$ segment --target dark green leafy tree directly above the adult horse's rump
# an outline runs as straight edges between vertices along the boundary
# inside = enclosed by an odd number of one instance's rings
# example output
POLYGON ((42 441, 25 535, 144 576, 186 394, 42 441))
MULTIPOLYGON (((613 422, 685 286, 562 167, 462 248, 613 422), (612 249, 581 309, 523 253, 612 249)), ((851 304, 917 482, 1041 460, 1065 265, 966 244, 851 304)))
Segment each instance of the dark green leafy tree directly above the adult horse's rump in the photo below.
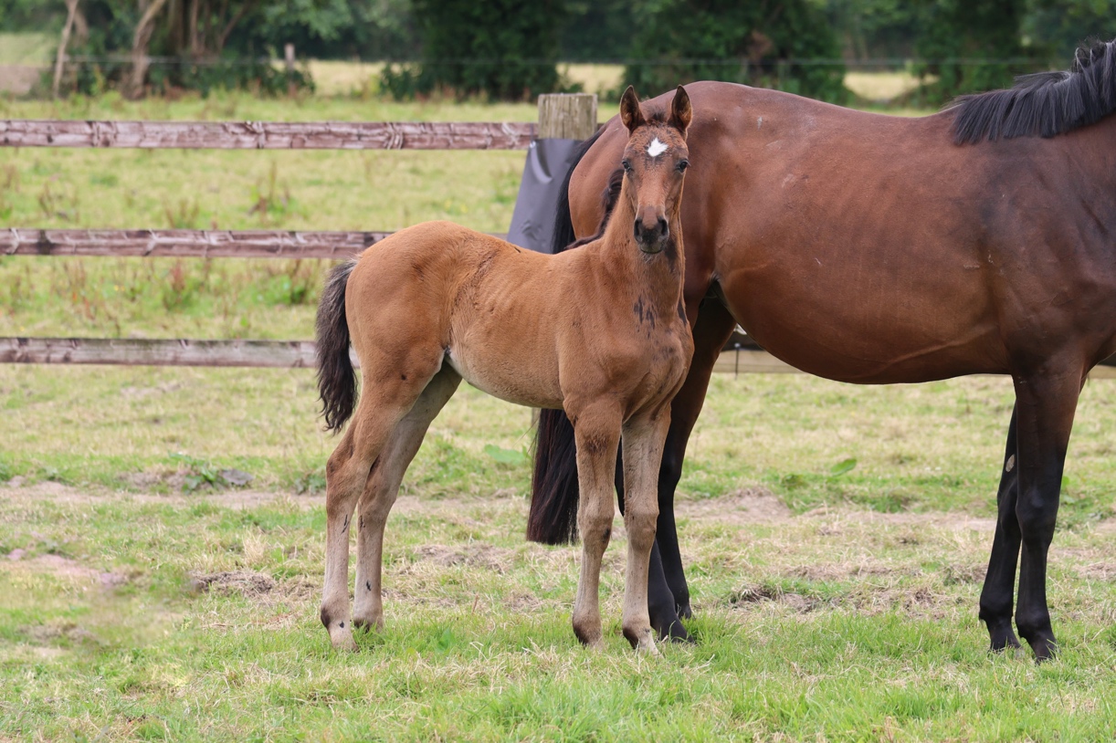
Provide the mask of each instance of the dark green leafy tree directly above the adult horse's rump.
POLYGON ((840 48, 820 8, 807 0, 654 0, 635 19, 625 80, 652 96, 694 80, 728 80, 839 102, 840 48), (668 60, 639 64, 638 60, 668 60))

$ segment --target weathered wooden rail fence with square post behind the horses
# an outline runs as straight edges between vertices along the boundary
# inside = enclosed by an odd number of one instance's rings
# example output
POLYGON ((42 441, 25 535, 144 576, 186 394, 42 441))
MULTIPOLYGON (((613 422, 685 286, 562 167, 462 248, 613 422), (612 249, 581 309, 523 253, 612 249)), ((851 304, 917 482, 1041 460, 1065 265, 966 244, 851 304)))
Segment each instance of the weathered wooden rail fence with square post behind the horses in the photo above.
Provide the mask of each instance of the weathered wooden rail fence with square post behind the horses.
MULTIPOLYGON (((585 138, 596 96, 540 96, 539 124, 489 122, 83 122, 0 119, 0 146, 220 149, 526 149, 537 136, 585 138)), ((391 232, 282 230, 0 230, 7 255, 343 259, 391 232)), ((308 340, 0 337, 0 363, 312 367, 308 340)), ((1116 377, 1116 356, 1096 377, 1116 377)), ((714 367, 792 373, 738 336, 714 367)))

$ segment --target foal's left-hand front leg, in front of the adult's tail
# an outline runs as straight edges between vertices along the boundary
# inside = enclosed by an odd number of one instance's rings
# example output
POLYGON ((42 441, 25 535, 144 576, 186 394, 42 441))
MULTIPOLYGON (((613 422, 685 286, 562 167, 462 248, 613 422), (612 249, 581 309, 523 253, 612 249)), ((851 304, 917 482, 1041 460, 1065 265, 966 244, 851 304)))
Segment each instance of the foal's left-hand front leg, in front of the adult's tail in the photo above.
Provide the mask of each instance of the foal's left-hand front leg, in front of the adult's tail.
POLYGON ((567 413, 574 423, 577 480, 581 492, 577 509, 581 573, 574 601, 574 634, 584 644, 597 646, 600 644, 600 561, 613 530, 612 480, 623 417, 619 407, 610 401, 567 413))

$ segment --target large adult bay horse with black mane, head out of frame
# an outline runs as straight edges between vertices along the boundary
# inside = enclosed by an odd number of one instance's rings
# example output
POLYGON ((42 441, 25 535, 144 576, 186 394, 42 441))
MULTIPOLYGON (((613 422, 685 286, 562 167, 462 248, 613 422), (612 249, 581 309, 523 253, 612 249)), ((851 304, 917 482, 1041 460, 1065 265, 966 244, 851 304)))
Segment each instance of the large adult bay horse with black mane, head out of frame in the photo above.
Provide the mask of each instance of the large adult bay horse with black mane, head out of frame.
MULTIPOLYGON (((739 322, 778 358, 841 382, 1011 375, 980 617, 993 649, 1018 646, 1018 563, 1019 634, 1050 657, 1047 551, 1074 412, 1089 369, 1116 350, 1116 42, 1080 49, 1070 71, 923 118, 724 83, 686 90, 695 165, 682 203, 684 296, 695 350, 658 479, 654 627, 685 636, 674 489, 713 361, 739 322)), ((557 242, 605 219, 624 141, 613 120, 588 143, 568 181, 571 233, 557 242)), ((564 425, 549 412, 540 423, 528 527, 539 541, 574 532, 564 425)))

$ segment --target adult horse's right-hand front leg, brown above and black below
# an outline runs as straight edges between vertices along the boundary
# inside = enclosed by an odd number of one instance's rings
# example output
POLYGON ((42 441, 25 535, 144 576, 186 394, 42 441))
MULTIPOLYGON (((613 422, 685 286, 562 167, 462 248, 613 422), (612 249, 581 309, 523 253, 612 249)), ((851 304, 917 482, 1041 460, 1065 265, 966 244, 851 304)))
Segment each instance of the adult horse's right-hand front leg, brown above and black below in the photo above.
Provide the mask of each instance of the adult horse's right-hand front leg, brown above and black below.
POLYGON ((1046 566, 1058 517, 1066 448, 1081 388, 1079 369, 1061 366, 1016 377, 1019 436, 1016 515, 1022 543, 1016 626, 1039 660, 1051 657, 1057 649, 1047 607, 1046 566))

